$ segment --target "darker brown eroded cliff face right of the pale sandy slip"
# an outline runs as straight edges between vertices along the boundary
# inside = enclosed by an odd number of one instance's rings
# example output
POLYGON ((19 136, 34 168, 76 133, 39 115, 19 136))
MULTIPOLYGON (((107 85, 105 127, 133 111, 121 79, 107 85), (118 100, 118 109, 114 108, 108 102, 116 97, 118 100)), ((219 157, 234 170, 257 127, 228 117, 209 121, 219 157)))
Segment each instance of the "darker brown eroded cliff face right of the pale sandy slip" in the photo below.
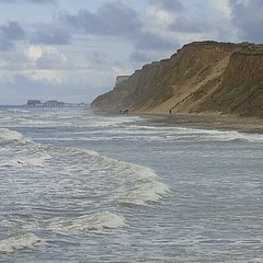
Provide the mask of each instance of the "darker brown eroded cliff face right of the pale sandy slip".
POLYGON ((263 117, 263 46, 232 53, 221 84, 196 110, 263 117))

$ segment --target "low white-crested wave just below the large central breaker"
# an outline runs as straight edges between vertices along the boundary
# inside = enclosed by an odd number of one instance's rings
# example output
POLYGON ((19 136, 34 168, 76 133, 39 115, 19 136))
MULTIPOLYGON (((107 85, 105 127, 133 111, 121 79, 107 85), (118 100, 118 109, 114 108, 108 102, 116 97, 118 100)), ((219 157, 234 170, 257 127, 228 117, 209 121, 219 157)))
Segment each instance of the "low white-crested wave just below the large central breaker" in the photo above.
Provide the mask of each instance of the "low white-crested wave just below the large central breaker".
POLYGON ((106 210, 80 216, 71 221, 62 221, 58 219, 58 221, 50 224, 49 228, 60 233, 88 233, 108 231, 125 226, 126 224, 123 216, 106 210))

